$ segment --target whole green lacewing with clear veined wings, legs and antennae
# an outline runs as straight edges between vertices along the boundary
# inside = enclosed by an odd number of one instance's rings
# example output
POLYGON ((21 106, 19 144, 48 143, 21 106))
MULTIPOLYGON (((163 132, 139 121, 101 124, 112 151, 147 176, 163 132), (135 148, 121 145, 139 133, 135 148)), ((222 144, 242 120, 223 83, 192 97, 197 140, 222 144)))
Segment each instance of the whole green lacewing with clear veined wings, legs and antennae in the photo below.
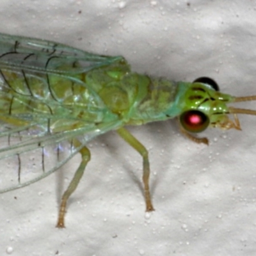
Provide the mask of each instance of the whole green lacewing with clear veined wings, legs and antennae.
POLYGON ((0 177, 0 193, 43 179, 81 154, 61 198, 59 228, 65 227, 67 200, 90 161, 86 143, 99 134, 115 130, 142 156, 146 211, 154 211, 147 149, 125 125, 177 117, 189 139, 207 144, 207 138, 194 133, 207 127, 240 130, 237 114, 256 115, 251 109, 228 106, 256 96, 223 94, 207 77, 176 83, 132 72, 122 56, 102 56, 22 36, 0 34, 0 76, 0 137, 4 137, 0 159, 8 161, 6 170, 13 175, 11 180, 0 177), (63 147, 68 147, 68 155, 61 158, 63 147), (40 152, 39 164, 29 173, 24 159, 34 151, 40 152), (52 154, 57 156, 54 163, 47 160, 52 154))

